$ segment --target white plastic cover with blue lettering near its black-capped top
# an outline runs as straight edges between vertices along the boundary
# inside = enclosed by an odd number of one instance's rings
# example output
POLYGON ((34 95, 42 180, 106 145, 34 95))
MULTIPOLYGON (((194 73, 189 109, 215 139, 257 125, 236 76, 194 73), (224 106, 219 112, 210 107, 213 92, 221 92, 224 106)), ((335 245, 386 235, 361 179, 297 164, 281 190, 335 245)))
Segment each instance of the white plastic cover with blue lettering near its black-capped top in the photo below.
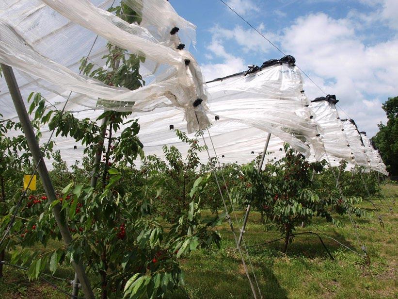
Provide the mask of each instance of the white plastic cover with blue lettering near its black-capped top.
POLYGON ((305 156, 310 144, 317 156, 324 151, 296 66, 276 64, 238 74, 207 83, 207 90, 209 110, 220 119, 272 133, 305 156))

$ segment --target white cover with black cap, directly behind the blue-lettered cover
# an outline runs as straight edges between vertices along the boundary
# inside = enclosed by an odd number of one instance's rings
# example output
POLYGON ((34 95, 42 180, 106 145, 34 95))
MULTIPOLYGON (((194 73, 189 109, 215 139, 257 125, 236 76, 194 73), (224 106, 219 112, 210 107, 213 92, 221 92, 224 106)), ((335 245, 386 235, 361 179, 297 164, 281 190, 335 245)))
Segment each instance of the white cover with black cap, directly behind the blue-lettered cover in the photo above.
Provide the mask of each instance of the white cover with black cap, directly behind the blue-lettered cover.
POLYGON ((354 162, 349 142, 344 134, 343 123, 338 116, 334 99, 331 96, 317 98, 312 101, 310 108, 314 114, 314 119, 322 128, 320 137, 325 147, 325 154, 331 156, 332 160, 345 160, 354 162))

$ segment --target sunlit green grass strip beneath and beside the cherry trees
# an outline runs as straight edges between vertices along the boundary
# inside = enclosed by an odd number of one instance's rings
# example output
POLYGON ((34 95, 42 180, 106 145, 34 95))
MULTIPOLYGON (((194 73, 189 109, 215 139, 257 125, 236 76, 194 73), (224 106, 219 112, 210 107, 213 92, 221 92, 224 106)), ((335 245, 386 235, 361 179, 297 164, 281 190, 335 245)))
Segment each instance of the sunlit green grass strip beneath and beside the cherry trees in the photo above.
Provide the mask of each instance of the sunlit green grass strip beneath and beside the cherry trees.
MULTIPOLYGON (((327 248, 332 252, 332 261, 316 235, 297 236, 289 245, 287 256, 281 253, 283 240, 264 246, 249 248, 251 262, 263 298, 398 298, 397 288, 397 208, 398 185, 383 186, 385 201, 374 199, 381 208, 384 228, 369 202, 363 208, 369 216, 355 220, 354 229, 347 217, 341 218, 341 227, 326 223, 323 219, 299 228, 297 232, 317 230, 327 233, 336 240, 362 253, 361 243, 367 247, 370 265, 363 258, 345 249, 326 235, 320 234, 327 248), (394 215, 389 211, 393 208, 394 215), (358 235, 358 243, 355 235, 358 235)), ((244 211, 238 211, 238 219, 244 211)), ((209 211, 203 212, 210 216, 209 211)), ((234 218, 234 217, 233 217, 234 218)), ((237 227, 237 225, 235 225, 237 227)), ((198 250, 182 260, 185 272, 185 291, 178 290, 173 299, 228 299, 252 298, 250 285, 235 249, 234 238, 227 223, 219 228, 223 241, 220 250, 198 250)), ((236 229, 238 232, 239 229, 236 229)), ((261 224, 260 215, 252 212, 246 227, 247 246, 279 238, 280 233, 261 224)), ((246 258, 247 262, 247 258, 246 258)), ((249 263, 248 263, 249 264, 249 263)), ((250 265, 248 265, 250 269, 250 265)), ((5 279, 0 282, 0 298, 67 298, 41 281, 29 282, 24 271, 4 266, 5 279)), ((71 268, 62 267, 56 273, 59 277, 73 278, 71 268)), ((252 276, 253 280, 253 276, 252 276)), ((257 290, 255 281, 253 280, 257 290)), ((57 285, 71 290, 70 285, 57 285)))

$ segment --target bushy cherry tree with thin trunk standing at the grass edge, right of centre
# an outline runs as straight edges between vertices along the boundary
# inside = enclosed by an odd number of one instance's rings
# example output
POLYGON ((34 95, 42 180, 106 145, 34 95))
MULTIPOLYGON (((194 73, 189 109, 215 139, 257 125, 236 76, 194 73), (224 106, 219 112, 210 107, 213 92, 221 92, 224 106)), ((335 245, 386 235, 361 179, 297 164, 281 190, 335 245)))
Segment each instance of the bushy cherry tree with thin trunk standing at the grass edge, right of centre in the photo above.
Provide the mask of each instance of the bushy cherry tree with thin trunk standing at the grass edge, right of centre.
POLYGON ((322 172, 325 162, 311 165, 288 145, 285 145, 285 151, 284 158, 267 164, 260 173, 254 162, 243 166, 241 182, 233 193, 241 203, 250 203, 261 211, 266 222, 271 222, 286 236, 284 252, 296 227, 303 222, 308 223, 315 216, 336 223, 332 212, 345 214, 349 209, 350 212, 354 210, 357 216, 362 215, 361 210, 351 207, 359 199, 342 199, 336 188, 323 184, 317 186, 312 181, 313 171, 322 172))

